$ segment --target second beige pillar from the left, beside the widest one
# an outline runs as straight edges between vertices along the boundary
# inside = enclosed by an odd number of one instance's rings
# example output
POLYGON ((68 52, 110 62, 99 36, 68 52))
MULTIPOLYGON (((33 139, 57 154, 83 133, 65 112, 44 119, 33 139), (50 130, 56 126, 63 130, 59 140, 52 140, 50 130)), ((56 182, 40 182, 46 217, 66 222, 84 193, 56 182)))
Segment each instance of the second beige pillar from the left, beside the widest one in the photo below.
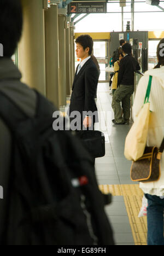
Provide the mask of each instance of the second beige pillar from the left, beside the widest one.
POLYGON ((46 96, 59 107, 58 96, 58 18, 57 3, 45 10, 45 73, 46 96))

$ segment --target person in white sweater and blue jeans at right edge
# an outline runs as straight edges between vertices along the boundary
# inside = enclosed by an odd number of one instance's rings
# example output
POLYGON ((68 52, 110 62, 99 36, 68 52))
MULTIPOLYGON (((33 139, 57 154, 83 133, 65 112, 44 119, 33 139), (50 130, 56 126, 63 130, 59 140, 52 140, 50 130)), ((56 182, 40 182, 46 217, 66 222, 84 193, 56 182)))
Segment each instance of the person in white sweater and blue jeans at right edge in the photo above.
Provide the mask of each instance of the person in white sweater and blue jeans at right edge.
MULTIPOLYGON (((150 75, 153 77, 150 92, 150 110, 147 146, 161 147, 164 137, 164 38, 157 46, 158 65, 153 70, 145 72, 139 80, 137 92, 133 104, 134 123, 140 109, 142 109, 145 92, 150 75)), ((133 139, 131 146, 133 147, 133 139)), ((148 245, 164 245, 163 237, 163 210, 164 210, 164 152, 160 160, 161 175, 154 182, 140 182, 139 187, 148 199, 148 245)))

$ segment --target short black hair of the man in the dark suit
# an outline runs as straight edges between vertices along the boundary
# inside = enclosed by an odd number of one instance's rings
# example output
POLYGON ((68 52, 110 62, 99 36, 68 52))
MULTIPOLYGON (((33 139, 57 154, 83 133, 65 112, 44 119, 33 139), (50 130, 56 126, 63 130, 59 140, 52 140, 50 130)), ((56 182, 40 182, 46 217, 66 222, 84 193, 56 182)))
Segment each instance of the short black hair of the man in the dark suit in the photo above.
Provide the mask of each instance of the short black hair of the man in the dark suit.
POLYGON ((85 50, 87 47, 90 48, 89 50, 89 55, 92 54, 92 49, 93 49, 93 39, 89 36, 89 34, 83 34, 81 36, 79 36, 76 40, 75 40, 76 44, 80 44, 81 46, 83 46, 83 49, 85 50))

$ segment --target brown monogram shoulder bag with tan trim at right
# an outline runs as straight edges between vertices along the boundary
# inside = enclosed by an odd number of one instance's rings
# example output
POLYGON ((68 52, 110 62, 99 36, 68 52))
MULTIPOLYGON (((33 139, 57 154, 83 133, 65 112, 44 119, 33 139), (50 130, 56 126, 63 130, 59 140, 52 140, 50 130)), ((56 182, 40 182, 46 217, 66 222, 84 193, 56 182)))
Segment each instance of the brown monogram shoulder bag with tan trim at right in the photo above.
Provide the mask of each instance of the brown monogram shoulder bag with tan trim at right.
POLYGON ((164 138, 160 149, 145 147, 144 154, 131 166, 131 179, 138 182, 154 182, 160 178, 160 160, 164 150, 164 138))

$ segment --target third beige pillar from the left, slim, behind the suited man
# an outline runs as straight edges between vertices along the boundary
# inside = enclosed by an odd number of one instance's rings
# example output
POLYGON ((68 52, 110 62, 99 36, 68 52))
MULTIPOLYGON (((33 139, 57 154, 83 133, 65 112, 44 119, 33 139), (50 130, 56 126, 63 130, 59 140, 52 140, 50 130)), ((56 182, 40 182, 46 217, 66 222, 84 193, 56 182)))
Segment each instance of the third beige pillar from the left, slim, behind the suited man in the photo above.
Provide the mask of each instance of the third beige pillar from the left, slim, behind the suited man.
MULTIPOLYGON (((59 42, 59 104, 66 106, 66 15, 67 9, 58 8, 59 42)), ((68 42, 67 42, 68 43, 68 42)))

